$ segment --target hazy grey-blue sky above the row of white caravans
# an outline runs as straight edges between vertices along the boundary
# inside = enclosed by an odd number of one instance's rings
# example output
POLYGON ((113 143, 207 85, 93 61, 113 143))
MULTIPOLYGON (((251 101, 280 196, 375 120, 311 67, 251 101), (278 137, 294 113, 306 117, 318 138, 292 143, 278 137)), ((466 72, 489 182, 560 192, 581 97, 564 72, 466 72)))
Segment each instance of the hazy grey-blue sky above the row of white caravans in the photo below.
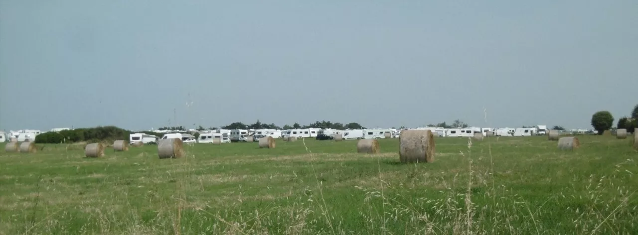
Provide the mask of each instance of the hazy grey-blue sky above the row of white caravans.
POLYGON ((635 0, 0 0, 5 130, 591 128, 637 74, 635 0))

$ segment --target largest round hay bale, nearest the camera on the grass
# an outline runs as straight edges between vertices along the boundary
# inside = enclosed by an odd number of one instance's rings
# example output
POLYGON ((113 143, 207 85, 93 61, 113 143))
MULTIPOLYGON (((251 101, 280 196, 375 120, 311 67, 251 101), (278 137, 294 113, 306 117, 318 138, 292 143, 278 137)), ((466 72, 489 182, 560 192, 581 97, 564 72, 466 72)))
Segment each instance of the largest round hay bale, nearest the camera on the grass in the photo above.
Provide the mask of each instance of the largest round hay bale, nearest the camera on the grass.
POLYGON ((433 162, 436 146, 430 130, 403 130, 399 136, 401 162, 433 162))

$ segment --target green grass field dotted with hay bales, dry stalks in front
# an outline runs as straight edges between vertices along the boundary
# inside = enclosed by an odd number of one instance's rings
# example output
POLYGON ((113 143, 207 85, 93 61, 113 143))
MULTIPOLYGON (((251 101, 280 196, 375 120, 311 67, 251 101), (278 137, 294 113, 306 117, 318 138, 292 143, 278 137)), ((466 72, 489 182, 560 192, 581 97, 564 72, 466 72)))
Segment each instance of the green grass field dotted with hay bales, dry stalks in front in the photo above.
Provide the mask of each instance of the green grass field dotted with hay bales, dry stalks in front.
MULTIPOLYGON (((436 138, 433 163, 357 141, 0 153, 0 234, 638 234, 630 139, 436 138)), ((0 145, 4 149, 4 145, 0 145)))

